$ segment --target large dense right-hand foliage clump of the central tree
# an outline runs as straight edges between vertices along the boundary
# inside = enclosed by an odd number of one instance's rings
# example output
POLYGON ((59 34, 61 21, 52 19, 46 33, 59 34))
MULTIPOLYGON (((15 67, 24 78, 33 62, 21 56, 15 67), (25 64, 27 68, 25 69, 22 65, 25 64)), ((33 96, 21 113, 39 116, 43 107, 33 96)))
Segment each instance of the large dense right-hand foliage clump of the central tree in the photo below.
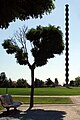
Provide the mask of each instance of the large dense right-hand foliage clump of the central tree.
POLYGON ((48 59, 54 58, 54 54, 61 54, 64 49, 63 35, 59 27, 38 26, 30 29, 26 37, 34 46, 31 52, 36 66, 45 65, 48 59))

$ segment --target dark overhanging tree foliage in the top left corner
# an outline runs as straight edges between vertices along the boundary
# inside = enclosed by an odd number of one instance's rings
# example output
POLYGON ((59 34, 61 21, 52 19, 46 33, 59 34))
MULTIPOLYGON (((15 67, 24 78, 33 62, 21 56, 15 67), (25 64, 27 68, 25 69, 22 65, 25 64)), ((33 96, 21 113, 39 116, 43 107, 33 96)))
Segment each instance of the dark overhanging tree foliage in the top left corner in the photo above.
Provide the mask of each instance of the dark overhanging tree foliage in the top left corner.
POLYGON ((16 19, 42 17, 54 9, 55 0, 0 0, 0 28, 7 28, 16 19))

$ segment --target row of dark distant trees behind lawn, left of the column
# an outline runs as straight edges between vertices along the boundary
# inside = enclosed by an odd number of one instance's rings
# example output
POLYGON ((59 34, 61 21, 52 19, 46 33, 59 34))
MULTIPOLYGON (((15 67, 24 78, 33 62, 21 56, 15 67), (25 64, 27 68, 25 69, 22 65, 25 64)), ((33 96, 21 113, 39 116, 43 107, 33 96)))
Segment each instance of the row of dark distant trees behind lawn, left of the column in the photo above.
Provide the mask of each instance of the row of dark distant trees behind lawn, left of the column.
MULTIPOLYGON (((48 78, 46 81, 35 78, 34 87, 55 87, 59 86, 59 81, 55 78, 54 82, 48 78)), ((11 80, 11 78, 7 78, 5 72, 0 73, 0 88, 29 88, 31 85, 27 82, 26 79, 20 78, 17 81, 11 80)))

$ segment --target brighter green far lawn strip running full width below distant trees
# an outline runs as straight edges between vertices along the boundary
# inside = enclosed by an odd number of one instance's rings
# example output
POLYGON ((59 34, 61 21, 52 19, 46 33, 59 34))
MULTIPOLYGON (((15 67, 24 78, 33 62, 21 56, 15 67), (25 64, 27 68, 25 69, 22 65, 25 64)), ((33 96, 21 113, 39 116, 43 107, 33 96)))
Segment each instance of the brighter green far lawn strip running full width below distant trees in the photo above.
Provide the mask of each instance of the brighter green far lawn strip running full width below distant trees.
MULTIPOLYGON (((30 95, 31 88, 8 88, 8 93, 11 95, 30 95)), ((0 94, 5 94, 6 89, 0 88, 0 94)), ((80 87, 74 88, 35 88, 34 95, 80 95, 80 87)))

